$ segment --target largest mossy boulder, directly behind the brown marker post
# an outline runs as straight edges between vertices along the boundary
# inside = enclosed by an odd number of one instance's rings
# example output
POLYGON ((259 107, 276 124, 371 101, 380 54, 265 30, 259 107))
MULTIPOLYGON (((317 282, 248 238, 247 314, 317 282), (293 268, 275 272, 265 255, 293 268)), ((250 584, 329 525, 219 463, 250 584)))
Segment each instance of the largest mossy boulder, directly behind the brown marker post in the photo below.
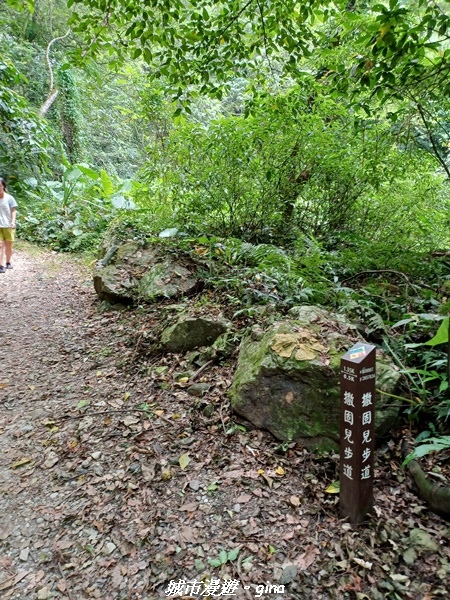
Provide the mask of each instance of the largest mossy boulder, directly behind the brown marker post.
MULTIPOLYGON (((295 307, 289 319, 266 332, 253 330, 241 344, 231 387, 233 409, 277 439, 311 450, 339 447, 340 359, 358 341, 342 315, 311 306, 295 307)), ((400 373, 377 351, 377 388, 395 393, 400 373)), ((395 424, 400 409, 377 394, 378 438, 395 424)))

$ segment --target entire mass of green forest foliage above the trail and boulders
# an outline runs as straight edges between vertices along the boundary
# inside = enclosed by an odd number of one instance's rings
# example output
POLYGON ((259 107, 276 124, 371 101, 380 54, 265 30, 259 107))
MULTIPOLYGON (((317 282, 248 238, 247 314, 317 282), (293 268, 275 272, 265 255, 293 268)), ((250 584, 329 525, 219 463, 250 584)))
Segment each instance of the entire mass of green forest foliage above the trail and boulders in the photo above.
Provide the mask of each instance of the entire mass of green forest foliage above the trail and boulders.
POLYGON ((445 343, 424 343, 449 313, 448 8, 9 0, 0 169, 22 235, 94 251, 108 228, 164 230, 236 315, 347 312, 439 427, 445 343))

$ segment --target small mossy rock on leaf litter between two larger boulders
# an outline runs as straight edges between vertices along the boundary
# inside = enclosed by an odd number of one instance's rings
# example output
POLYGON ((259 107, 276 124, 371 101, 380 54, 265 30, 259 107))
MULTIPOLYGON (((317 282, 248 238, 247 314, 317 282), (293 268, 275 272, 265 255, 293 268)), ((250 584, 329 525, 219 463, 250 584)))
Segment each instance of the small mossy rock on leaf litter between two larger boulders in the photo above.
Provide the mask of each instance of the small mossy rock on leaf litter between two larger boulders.
POLYGON ((170 352, 187 352, 201 346, 210 346, 229 326, 223 319, 184 315, 163 331, 161 344, 170 352))

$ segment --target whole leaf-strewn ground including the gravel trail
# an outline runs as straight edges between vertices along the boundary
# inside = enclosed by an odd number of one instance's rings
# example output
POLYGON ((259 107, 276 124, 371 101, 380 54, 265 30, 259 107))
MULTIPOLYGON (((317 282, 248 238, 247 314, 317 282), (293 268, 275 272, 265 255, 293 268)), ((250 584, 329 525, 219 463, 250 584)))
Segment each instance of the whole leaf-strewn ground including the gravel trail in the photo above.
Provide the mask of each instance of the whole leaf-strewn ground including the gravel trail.
POLYGON ((232 360, 190 396, 185 357, 140 343, 160 307, 101 313, 86 266, 26 245, 13 258, 0 598, 448 598, 449 523, 417 497, 399 439, 377 452, 373 515, 350 526, 325 491, 337 456, 233 425, 232 360))

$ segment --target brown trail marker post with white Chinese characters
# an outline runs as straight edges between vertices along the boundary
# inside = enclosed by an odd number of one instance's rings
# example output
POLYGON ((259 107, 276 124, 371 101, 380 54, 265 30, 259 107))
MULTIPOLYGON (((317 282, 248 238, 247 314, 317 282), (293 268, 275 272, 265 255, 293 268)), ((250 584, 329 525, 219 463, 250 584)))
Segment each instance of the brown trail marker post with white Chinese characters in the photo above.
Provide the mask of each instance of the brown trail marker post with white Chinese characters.
POLYGON ((358 343, 341 359, 341 517, 361 523, 373 507, 375 346, 358 343))

